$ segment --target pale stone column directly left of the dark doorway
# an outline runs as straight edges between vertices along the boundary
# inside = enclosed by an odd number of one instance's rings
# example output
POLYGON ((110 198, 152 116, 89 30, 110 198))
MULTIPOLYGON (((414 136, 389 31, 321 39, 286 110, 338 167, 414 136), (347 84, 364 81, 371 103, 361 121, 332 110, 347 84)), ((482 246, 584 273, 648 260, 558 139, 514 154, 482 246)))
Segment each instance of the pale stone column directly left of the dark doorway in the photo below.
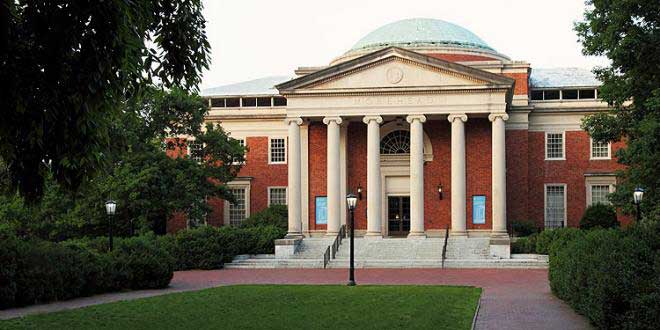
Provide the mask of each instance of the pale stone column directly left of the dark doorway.
POLYGON ((381 116, 365 116, 367 124, 367 234, 366 237, 382 237, 380 227, 380 124, 381 116))

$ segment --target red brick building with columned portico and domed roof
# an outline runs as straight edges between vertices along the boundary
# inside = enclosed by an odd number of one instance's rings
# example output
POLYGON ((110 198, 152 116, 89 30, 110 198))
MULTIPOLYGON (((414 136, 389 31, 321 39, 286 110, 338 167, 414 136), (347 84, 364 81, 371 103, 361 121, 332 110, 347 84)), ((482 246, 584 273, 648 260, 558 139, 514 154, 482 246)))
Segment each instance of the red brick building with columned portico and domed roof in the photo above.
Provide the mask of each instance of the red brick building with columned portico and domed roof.
POLYGON ((354 192, 366 237, 576 226, 607 201, 620 166, 620 143, 580 128, 607 109, 598 85, 588 70, 511 60, 441 20, 385 25, 327 66, 204 91, 207 120, 248 148, 230 183, 238 202, 215 203, 209 222, 288 204, 290 236, 336 235, 354 192))

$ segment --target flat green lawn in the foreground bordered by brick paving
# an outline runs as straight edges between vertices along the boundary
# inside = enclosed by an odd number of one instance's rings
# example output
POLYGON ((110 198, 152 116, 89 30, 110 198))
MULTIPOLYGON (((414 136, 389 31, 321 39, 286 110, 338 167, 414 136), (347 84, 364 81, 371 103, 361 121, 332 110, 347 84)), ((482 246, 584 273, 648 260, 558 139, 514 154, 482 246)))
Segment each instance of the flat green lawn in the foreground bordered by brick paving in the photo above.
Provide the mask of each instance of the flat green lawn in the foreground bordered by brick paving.
POLYGON ((481 289, 238 285, 0 321, 0 329, 470 329, 481 289))

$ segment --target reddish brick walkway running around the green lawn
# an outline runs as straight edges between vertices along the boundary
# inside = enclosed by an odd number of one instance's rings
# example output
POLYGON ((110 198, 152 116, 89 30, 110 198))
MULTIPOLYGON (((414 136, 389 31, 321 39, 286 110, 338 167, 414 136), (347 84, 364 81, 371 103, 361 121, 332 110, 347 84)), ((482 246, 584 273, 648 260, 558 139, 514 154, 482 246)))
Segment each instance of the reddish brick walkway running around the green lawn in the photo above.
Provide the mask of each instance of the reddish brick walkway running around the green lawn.
MULTIPOLYGON (((231 269, 177 272, 168 289, 103 294, 0 311, 0 319, 228 284, 341 284, 345 269, 231 269)), ((589 329, 587 321, 555 298, 547 270, 358 269, 359 284, 446 284, 484 289, 477 329, 589 329)))

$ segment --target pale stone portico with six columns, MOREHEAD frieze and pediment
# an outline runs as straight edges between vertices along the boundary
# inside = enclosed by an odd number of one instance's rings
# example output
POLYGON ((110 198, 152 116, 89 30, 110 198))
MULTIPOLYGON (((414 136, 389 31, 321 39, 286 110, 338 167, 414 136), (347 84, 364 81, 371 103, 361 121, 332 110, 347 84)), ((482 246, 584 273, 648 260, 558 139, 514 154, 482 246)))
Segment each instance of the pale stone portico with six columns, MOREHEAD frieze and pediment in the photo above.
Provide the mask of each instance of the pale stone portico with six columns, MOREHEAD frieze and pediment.
MULTIPOLYGON (((388 188, 384 178, 387 159, 383 155, 382 129, 390 123, 405 128, 409 140, 406 149, 407 173, 393 174, 406 178, 409 189, 404 201, 405 214, 409 213, 408 237, 426 237, 427 224, 435 221, 435 214, 425 212, 425 201, 437 194, 428 189, 427 179, 438 174, 426 169, 433 146, 428 142, 431 121, 449 123, 451 136, 451 182, 446 189, 451 195, 451 233, 467 235, 466 126, 470 121, 490 123, 492 157, 492 231, 493 237, 506 235, 506 166, 505 130, 507 109, 511 103, 514 80, 501 75, 447 62, 397 47, 385 48, 367 55, 335 64, 277 86, 288 100, 286 122, 289 125, 289 235, 303 234, 301 182, 301 125, 322 123, 325 129, 325 177, 327 198, 326 234, 336 235, 342 224, 344 196, 341 191, 355 192, 341 173, 347 163, 363 162, 366 158, 366 228, 365 237, 380 238, 388 234, 388 212, 393 206, 384 205, 388 188), (365 154, 344 157, 341 132, 364 125, 363 141, 348 144, 366 144, 365 154), (404 126, 405 125, 405 126, 404 126), (360 157, 361 159, 357 159, 360 157)), ((437 127, 433 126, 433 127, 437 127)), ((443 126, 444 127, 444 126, 443 126)), ((349 132, 350 133, 350 132, 349 132)), ((433 132, 432 132, 433 133, 433 132)), ((448 132, 449 134, 449 132, 448 132)), ((408 143, 408 141, 406 141, 408 143)), ((345 148, 344 144, 344 148, 345 148)), ((310 147, 311 148, 311 147, 310 147)), ((432 155, 433 161, 438 160, 432 155)), ((401 158, 404 159, 404 158, 401 158)), ((441 161, 441 160, 438 160, 441 161)), ((446 171, 446 170, 445 170, 446 171)), ((399 171, 400 172, 400 171, 399 171)), ((439 175, 439 174, 438 174, 439 175)), ((350 179, 350 178, 349 178, 350 179)), ((435 190, 435 189, 434 189, 435 190)), ((311 215, 311 212, 305 212, 311 215)), ((407 228, 407 227, 406 227, 407 228)))

